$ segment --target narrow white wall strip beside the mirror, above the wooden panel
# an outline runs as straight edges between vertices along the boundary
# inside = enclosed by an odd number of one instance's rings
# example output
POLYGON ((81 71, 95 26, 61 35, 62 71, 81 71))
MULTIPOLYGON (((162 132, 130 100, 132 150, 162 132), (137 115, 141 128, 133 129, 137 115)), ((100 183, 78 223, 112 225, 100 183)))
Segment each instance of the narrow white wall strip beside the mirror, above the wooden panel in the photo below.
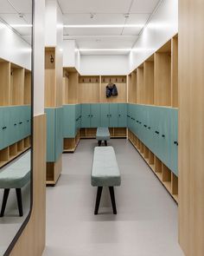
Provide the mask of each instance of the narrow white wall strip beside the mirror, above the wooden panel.
POLYGON ((45 1, 35 0, 34 115, 44 113, 45 1))

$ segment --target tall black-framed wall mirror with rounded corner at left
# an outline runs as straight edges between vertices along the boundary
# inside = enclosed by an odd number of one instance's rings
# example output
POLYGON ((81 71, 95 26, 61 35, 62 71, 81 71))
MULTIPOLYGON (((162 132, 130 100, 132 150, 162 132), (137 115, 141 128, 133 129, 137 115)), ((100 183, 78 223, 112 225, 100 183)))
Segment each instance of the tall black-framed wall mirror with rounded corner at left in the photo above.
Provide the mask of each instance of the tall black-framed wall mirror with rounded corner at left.
POLYGON ((32 5, 0 0, 0 256, 32 205, 32 5))

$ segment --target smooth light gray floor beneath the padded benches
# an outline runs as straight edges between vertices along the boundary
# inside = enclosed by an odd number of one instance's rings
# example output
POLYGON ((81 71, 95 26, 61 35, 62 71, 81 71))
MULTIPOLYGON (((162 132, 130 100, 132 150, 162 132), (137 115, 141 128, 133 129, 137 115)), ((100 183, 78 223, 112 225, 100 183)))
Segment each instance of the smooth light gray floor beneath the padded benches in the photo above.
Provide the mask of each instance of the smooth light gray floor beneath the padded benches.
POLYGON ((93 215, 90 185, 95 140, 63 154, 63 172, 47 191, 47 247, 43 256, 182 256, 177 243, 177 206, 131 143, 112 140, 122 185, 115 189, 118 215, 102 194, 93 215))

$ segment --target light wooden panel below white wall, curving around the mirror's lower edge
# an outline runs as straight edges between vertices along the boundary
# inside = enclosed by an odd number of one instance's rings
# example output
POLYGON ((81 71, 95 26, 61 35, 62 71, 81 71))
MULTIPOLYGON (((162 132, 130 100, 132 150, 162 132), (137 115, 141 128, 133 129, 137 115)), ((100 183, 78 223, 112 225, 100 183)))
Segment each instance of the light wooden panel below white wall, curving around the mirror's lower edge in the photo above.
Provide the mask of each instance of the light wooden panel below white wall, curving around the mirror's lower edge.
POLYGON ((28 225, 10 256, 41 256, 46 225, 46 116, 34 118, 33 210, 28 225))

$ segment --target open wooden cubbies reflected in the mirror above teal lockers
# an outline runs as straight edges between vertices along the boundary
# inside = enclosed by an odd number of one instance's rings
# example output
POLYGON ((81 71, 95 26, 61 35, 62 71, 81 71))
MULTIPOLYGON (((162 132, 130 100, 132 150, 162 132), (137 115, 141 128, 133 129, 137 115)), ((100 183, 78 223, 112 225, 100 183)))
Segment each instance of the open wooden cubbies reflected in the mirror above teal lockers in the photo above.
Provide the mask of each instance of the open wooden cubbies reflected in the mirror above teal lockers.
POLYGON ((31 98, 31 72, 0 59, 0 106, 28 105, 31 98))

